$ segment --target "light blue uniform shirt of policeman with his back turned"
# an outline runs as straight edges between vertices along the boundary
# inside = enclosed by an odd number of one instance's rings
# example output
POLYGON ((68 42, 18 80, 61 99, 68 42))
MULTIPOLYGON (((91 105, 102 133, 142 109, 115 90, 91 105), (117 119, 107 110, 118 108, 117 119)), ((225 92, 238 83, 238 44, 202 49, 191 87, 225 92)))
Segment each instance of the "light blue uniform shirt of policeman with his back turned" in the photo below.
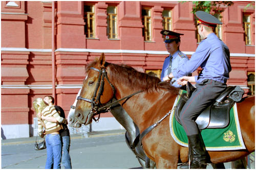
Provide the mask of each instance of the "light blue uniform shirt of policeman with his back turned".
POLYGON ((226 83, 231 71, 229 55, 226 44, 215 33, 210 33, 200 42, 190 60, 172 71, 173 76, 175 78, 185 76, 201 66, 203 70, 195 77, 197 83, 205 79, 226 83))

